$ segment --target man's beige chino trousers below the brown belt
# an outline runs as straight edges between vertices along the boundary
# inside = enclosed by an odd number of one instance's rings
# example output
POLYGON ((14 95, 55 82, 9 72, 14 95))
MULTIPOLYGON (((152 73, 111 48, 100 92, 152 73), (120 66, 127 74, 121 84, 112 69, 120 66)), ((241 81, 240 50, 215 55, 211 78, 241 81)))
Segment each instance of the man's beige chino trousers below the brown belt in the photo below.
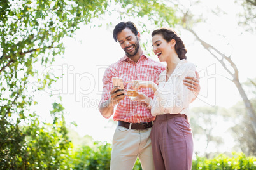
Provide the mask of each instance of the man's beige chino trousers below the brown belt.
POLYGON ((133 130, 117 126, 113 136, 111 170, 132 170, 137 157, 143 170, 153 170, 153 154, 148 130, 133 130))

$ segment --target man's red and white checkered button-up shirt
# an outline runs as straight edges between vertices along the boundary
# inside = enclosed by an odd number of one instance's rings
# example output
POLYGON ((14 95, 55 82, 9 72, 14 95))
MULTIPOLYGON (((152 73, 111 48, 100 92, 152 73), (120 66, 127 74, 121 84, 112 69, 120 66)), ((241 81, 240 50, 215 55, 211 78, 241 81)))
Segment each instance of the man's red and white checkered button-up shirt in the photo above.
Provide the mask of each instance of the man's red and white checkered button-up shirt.
MULTIPOLYGON (((157 83, 159 74, 165 69, 166 67, 162 63, 146 57, 144 53, 140 56, 137 63, 125 55, 106 69, 103 76, 103 95, 99 105, 110 98, 110 91, 113 88, 112 77, 121 77, 123 81, 144 80, 157 83)), ((126 83, 124 83, 124 89, 125 91, 127 90, 126 83)), ((152 89, 141 88, 139 92, 143 92, 146 96, 153 99, 154 93, 152 89)), ((144 103, 131 101, 128 96, 125 96, 118 103, 113 117, 114 121, 131 123, 150 122, 154 119, 155 117, 151 115, 150 110, 146 108, 144 103), (131 110, 135 114, 131 114, 131 110)))

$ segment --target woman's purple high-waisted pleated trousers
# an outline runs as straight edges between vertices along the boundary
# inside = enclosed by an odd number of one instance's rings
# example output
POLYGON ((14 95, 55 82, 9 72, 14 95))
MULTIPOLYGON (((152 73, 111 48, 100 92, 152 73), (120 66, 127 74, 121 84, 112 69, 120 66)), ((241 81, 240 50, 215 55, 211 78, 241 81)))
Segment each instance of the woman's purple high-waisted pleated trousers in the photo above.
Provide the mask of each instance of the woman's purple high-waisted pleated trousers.
POLYGON ((155 169, 192 169, 193 138, 186 115, 157 115, 150 135, 155 169))

